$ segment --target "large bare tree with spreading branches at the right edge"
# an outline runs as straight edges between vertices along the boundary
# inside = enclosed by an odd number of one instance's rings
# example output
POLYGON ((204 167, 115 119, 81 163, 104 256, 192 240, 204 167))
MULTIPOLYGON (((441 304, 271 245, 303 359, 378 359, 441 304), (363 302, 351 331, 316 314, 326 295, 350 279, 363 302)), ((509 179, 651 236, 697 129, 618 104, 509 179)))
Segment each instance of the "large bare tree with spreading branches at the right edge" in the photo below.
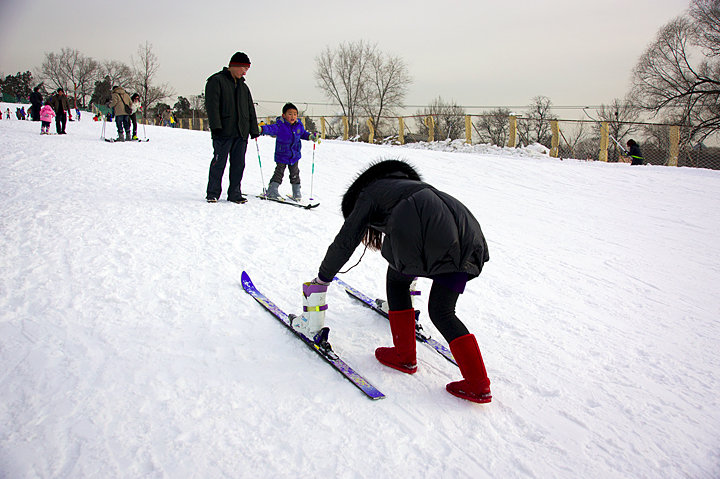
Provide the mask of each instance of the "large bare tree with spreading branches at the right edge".
POLYGON ((654 114, 671 112, 701 138, 720 130, 720 2, 692 0, 666 24, 633 73, 632 97, 654 114))

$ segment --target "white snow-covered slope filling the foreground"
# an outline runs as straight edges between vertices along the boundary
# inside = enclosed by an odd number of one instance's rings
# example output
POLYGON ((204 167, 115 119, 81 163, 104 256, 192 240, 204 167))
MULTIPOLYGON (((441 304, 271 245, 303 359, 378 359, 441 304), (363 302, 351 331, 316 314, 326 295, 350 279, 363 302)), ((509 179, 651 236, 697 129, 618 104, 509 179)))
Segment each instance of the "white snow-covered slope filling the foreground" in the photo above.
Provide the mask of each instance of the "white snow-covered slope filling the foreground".
MULTIPOLYGON (((720 476, 720 172, 324 141, 304 211, 206 203, 208 133, 67 131, 0 121, 0 477, 720 476), (380 365, 387 322, 333 286, 331 341, 370 401, 240 286, 297 312, 344 189, 387 157, 486 234, 458 315, 490 404, 449 395, 458 370, 422 345, 414 376, 380 365)), ((248 194, 274 166, 259 146, 248 194)), ((385 268, 367 253, 343 278, 383 296, 385 268)))

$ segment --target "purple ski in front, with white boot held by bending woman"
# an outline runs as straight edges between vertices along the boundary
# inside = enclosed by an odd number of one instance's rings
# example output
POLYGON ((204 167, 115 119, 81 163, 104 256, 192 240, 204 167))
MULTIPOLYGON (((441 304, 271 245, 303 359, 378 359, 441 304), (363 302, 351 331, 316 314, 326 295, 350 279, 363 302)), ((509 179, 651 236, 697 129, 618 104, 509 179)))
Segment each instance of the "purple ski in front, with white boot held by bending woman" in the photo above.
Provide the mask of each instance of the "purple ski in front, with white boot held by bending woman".
POLYGON ((330 363, 332 367, 334 367, 340 374, 342 374, 348 381, 352 382, 358 389, 360 389, 367 397, 370 399, 382 399, 385 397, 383 393, 381 393, 375 386, 370 384, 367 379, 365 379, 363 376, 358 374, 354 369, 352 369, 348 364, 340 359, 338 355, 335 353, 335 351, 332 350, 330 345, 328 343, 324 343, 324 345, 318 345, 316 344, 312 339, 308 339, 304 335, 300 334, 295 330, 295 328, 292 327, 290 324, 290 316, 288 316, 285 312, 283 312, 275 303, 270 301, 264 294, 262 294, 258 289, 255 287, 253 282, 250 280, 250 276, 243 271, 242 273, 242 286, 246 293, 248 293, 250 296, 255 298, 255 300, 260 303, 265 309, 270 311, 273 316, 275 316, 275 319, 280 321, 286 328, 288 328, 290 331, 293 332, 293 334, 300 340, 302 340, 303 343, 305 343, 306 346, 308 346, 310 349, 315 351, 320 357, 322 357, 325 361, 330 363))

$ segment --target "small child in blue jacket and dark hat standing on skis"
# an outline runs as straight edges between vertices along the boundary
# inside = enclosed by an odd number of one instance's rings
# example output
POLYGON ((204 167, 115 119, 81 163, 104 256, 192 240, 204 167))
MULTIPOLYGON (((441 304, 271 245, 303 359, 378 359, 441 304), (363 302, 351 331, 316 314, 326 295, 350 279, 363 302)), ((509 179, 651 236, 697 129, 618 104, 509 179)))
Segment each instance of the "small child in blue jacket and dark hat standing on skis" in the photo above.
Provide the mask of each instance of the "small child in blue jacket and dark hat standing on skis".
POLYGON ((302 143, 300 140, 315 141, 317 135, 305 130, 302 121, 298 120, 298 109, 292 103, 286 103, 283 106, 282 117, 277 117, 273 125, 260 125, 261 135, 270 135, 275 139, 275 173, 270 178, 267 196, 270 198, 279 198, 278 188, 282 183, 285 175, 285 167, 287 167, 290 175, 290 184, 293 190, 293 199, 300 201, 302 194, 300 193, 300 150, 302 143))

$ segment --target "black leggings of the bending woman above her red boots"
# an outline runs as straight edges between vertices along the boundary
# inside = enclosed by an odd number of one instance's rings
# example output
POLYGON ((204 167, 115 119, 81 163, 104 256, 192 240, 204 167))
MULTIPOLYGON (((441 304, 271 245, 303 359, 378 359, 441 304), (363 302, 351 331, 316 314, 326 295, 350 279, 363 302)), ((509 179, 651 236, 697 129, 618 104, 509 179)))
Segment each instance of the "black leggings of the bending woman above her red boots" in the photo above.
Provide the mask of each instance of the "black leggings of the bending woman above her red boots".
MULTIPOLYGON (((412 309, 410 283, 413 279, 388 267, 386 288, 390 311, 412 309)), ((462 321, 455 316, 455 304, 459 296, 460 293, 456 293, 437 281, 433 281, 430 288, 430 297, 428 298, 430 321, 448 343, 469 333, 462 321)))

